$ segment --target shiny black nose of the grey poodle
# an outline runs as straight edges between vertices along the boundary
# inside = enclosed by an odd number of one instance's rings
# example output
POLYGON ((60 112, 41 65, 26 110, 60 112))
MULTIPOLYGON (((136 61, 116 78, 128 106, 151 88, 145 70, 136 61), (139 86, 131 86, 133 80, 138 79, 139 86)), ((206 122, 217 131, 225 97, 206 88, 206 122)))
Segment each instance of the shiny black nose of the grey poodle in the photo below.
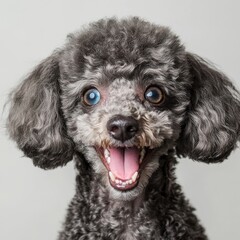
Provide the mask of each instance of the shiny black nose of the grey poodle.
POLYGON ((134 137, 139 129, 133 117, 116 115, 107 122, 107 130, 114 139, 124 142, 134 137))

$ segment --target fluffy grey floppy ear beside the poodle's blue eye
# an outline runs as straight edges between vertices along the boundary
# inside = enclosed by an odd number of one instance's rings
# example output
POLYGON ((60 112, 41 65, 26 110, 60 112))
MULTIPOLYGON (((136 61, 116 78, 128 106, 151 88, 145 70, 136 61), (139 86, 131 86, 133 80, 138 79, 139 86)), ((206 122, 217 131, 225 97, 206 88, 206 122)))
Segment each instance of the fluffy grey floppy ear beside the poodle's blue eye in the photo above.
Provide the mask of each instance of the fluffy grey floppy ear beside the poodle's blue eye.
POLYGON ((65 165, 73 157, 61 112, 59 57, 56 52, 40 63, 10 99, 10 136, 34 165, 44 169, 65 165))

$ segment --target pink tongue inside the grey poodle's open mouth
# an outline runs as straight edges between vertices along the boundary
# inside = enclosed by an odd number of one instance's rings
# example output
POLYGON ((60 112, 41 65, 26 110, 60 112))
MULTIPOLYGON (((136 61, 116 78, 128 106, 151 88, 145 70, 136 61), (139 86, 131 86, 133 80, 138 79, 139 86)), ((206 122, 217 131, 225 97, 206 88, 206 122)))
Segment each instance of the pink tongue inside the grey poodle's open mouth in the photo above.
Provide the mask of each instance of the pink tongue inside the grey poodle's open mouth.
POLYGON ((118 178, 127 180, 139 169, 139 150, 131 148, 110 148, 110 170, 118 178))

